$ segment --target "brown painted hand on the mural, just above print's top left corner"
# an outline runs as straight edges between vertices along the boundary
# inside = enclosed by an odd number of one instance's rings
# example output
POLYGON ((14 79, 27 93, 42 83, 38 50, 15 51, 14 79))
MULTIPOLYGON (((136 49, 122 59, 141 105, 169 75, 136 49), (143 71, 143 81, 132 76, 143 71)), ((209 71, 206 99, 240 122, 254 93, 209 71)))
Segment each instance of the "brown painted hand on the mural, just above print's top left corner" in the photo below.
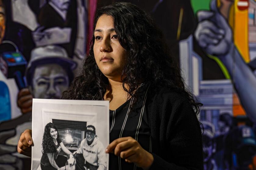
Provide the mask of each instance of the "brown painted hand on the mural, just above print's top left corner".
POLYGON ((33 96, 28 88, 21 89, 17 97, 17 105, 23 114, 32 111, 33 96))

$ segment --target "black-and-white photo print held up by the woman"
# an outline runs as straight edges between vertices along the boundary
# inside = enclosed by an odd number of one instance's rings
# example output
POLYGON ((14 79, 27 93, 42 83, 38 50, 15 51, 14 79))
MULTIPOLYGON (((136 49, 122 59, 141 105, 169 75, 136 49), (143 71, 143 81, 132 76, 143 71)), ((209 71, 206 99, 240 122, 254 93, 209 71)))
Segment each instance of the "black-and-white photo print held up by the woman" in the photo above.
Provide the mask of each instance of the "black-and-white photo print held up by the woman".
POLYGON ((31 170, 108 170, 109 102, 33 99, 31 170))

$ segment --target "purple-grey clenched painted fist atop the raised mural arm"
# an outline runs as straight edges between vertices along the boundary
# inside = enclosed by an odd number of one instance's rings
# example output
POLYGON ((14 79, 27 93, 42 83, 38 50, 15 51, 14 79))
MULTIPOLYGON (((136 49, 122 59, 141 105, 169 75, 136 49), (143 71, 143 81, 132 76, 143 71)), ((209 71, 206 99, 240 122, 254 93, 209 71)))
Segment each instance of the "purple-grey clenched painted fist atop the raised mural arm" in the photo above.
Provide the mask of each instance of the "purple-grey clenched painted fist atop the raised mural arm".
POLYGON ((211 3, 212 11, 199 11, 198 25, 194 36, 208 54, 222 57, 230 53, 233 46, 232 31, 226 19, 219 13, 216 1, 211 3))

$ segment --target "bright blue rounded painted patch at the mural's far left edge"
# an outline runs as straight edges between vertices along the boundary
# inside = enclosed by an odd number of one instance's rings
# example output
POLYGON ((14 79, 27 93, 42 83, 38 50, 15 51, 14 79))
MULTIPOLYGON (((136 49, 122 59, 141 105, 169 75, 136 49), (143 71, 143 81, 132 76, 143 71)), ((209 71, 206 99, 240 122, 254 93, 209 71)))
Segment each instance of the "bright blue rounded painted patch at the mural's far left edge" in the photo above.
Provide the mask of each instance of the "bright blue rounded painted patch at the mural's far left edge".
POLYGON ((11 119, 11 102, 7 85, 0 81, 0 121, 11 119))

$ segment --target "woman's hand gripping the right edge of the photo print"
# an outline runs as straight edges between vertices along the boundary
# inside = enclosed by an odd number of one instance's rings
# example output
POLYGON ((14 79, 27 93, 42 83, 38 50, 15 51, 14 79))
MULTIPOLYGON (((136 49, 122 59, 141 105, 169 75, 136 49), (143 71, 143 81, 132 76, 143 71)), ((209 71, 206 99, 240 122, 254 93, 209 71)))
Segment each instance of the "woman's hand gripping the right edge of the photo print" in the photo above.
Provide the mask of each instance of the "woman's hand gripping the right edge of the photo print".
POLYGON ((153 155, 144 150, 132 137, 118 138, 112 141, 108 145, 106 153, 114 153, 125 159, 126 162, 133 162, 144 170, 149 169, 154 161, 153 155))

